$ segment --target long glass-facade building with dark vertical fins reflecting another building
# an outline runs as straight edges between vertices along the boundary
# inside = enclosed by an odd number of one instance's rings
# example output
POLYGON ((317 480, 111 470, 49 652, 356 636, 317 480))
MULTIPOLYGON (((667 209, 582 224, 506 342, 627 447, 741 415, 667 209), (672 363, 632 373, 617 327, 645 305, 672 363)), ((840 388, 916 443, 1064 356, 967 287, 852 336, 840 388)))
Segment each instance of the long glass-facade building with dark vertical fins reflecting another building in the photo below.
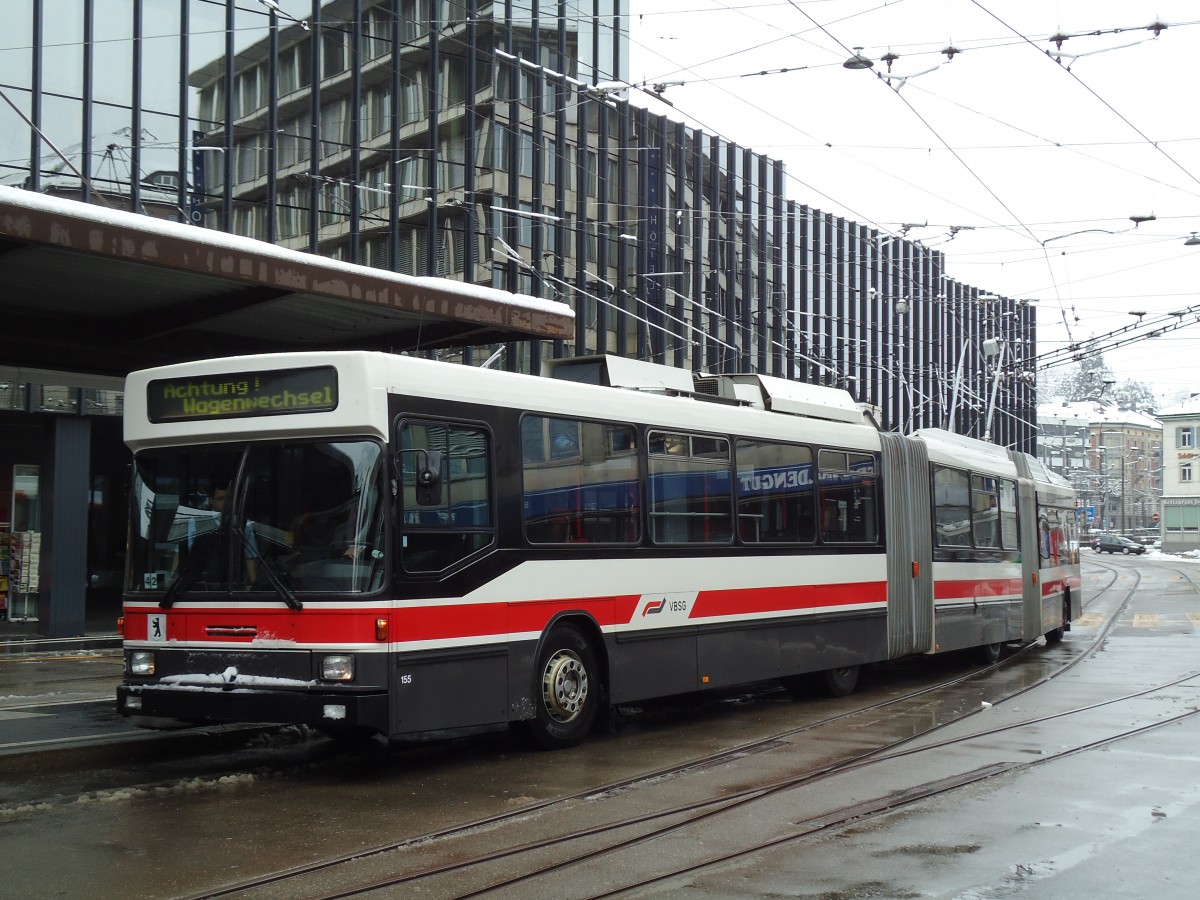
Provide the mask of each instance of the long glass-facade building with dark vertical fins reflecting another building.
POLYGON ((631 5, 18 0, 0 184, 577 312, 571 341, 443 358, 756 371, 1033 451, 1033 308, 650 113, 625 86, 631 5))

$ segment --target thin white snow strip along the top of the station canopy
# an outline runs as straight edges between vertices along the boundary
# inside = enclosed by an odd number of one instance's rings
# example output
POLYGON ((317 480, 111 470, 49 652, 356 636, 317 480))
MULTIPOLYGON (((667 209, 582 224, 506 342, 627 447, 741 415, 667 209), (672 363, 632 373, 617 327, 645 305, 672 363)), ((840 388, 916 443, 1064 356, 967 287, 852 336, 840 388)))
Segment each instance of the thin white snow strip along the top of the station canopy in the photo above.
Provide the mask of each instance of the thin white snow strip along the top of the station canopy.
POLYGON ((275 244, 260 241, 254 238, 244 238, 239 234, 216 232, 209 228, 199 228, 180 222, 168 222, 152 216, 143 216, 137 212, 114 210, 98 206, 80 200, 68 200, 59 197, 47 197, 35 191, 25 191, 18 187, 0 185, 0 203, 20 209, 36 210, 50 215, 61 215, 74 220, 95 222, 96 224, 113 226, 127 230, 142 232, 146 235, 175 238, 179 240, 194 241, 197 244, 218 247, 233 252, 241 252, 256 257, 270 257, 281 263, 294 263, 305 266, 320 266, 330 272, 344 272, 358 278, 374 278, 388 281, 396 286, 408 286, 426 292, 438 292, 451 294, 464 300, 482 300, 491 304, 505 304, 532 312, 550 313, 553 316, 565 316, 575 318, 575 312, 568 304, 559 300, 546 300, 544 298, 530 296, 529 294, 514 294, 499 288, 484 287, 481 284, 468 284, 450 278, 421 277, 416 275, 402 275, 388 269, 374 269, 368 265, 356 263, 344 263, 340 259, 313 253, 304 253, 298 250, 288 250, 275 244))

